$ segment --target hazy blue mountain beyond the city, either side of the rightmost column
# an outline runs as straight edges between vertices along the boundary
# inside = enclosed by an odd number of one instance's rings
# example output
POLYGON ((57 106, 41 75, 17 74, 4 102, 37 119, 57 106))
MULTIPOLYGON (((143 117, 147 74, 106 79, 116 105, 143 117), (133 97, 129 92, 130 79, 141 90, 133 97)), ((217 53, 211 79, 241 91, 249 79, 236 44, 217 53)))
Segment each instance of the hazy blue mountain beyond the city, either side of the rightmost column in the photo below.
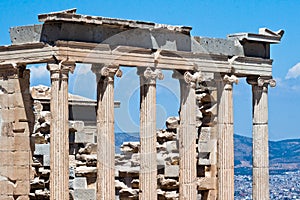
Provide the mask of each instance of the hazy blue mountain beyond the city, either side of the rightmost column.
MULTIPOLYGON (((252 138, 234 135, 235 168, 252 166, 252 138)), ((271 170, 300 168, 300 139, 269 141, 271 170)))

